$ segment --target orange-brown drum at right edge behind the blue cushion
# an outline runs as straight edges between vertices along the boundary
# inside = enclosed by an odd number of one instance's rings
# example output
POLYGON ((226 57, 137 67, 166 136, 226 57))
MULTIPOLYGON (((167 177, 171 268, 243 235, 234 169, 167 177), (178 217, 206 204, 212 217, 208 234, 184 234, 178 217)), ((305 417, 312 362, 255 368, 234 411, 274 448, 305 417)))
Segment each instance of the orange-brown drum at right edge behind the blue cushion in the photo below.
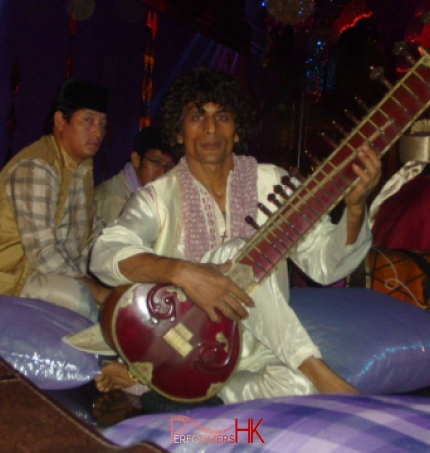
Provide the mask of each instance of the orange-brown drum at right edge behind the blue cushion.
POLYGON ((430 308, 430 253, 371 249, 365 262, 365 285, 404 302, 430 308))

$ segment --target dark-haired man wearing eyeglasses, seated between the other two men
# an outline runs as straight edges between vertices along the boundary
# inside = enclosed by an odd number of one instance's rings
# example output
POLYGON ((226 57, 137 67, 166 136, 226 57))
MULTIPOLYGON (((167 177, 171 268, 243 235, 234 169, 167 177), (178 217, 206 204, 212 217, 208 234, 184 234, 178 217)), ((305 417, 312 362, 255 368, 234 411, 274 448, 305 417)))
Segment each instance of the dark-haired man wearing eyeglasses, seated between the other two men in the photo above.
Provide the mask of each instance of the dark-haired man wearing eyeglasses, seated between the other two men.
POLYGON ((158 127, 139 131, 130 162, 95 191, 97 215, 106 223, 119 217, 131 195, 141 186, 155 181, 175 166, 175 160, 161 139, 158 127))

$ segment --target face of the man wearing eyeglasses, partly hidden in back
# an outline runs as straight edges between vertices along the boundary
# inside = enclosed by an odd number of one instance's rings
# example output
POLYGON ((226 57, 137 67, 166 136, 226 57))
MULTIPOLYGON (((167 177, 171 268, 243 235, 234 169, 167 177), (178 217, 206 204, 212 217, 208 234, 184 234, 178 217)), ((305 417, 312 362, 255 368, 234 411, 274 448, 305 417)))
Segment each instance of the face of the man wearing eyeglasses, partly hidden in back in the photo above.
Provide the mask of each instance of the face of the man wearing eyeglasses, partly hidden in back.
POLYGON ((133 151, 131 163, 136 170, 141 186, 155 181, 175 166, 173 157, 160 149, 150 149, 144 157, 140 157, 136 151, 133 151))

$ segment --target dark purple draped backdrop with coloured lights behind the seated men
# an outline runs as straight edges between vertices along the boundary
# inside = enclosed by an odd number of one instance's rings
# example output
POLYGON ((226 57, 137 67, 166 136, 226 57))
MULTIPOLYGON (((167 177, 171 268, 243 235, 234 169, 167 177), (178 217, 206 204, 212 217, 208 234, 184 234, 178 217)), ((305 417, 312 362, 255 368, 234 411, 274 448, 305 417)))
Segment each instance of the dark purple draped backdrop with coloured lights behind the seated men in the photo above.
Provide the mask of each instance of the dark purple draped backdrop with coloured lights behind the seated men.
MULTIPOLYGON (((259 161, 308 167, 307 150, 330 151, 332 121, 360 117, 354 96, 375 104, 382 85, 407 69, 395 42, 428 40, 428 0, 317 0, 301 23, 285 23, 254 0, 0 0, 0 168, 45 131, 55 95, 68 76, 109 86, 110 129, 96 182, 125 163, 139 120, 159 108, 172 79, 197 66, 237 74, 259 113, 251 152, 259 161), (156 16, 156 27, 148 22, 156 16), (145 52, 153 52, 149 74, 145 52), (152 99, 142 100, 145 75, 152 99)), ((304 168, 307 171, 307 168, 304 168)), ((389 170, 388 170, 389 171, 389 170)))

